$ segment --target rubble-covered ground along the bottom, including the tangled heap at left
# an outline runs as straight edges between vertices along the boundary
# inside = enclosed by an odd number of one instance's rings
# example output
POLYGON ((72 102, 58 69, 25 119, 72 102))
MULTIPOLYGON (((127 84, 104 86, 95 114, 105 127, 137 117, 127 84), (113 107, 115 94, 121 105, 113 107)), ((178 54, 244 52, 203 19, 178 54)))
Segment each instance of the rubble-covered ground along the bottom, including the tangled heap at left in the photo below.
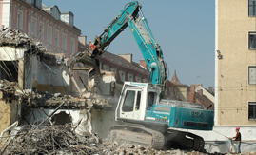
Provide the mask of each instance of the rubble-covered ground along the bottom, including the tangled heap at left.
MULTIPOLYGON (((208 153, 192 150, 155 150, 143 145, 119 144, 102 141, 97 134, 88 131, 76 133, 75 126, 27 126, 24 127, 6 147, 4 155, 12 154, 91 154, 91 155, 136 155, 136 154, 187 154, 205 155, 208 153)), ((229 154, 229 153, 227 153, 229 154)), ((256 154, 254 152, 246 154, 256 154)))

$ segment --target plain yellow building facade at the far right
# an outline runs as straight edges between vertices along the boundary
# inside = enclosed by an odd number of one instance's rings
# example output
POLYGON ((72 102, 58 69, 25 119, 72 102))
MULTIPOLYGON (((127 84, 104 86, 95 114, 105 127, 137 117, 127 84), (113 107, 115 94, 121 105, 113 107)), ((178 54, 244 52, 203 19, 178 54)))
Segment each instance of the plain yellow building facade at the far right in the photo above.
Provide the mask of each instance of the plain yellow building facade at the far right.
POLYGON ((256 126, 256 2, 215 3, 215 126, 256 126))

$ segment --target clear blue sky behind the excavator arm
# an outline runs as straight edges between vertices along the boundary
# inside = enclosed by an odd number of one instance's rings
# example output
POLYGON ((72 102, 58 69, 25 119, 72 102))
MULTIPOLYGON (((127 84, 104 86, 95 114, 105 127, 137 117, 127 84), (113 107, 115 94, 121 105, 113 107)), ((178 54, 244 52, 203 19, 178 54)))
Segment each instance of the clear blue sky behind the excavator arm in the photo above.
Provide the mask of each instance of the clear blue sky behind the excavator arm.
MULTIPOLYGON (((88 41, 100 36, 108 24, 131 0, 43 0, 46 6, 74 14, 74 26, 88 41)), ((214 0, 139 0, 144 16, 161 46, 169 69, 182 84, 214 87, 215 1, 214 0)), ((110 44, 108 52, 133 54, 139 63, 143 55, 129 28, 110 44)))

